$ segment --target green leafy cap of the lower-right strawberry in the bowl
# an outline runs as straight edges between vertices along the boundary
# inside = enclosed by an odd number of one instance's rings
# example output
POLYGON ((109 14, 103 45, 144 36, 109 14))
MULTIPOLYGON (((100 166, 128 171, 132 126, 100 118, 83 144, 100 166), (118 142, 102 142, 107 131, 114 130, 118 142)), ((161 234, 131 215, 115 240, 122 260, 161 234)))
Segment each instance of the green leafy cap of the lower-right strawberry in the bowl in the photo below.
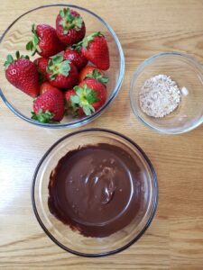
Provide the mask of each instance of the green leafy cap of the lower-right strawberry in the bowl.
POLYGON ((99 100, 97 93, 93 89, 88 88, 88 85, 85 83, 82 85, 82 87, 77 85, 73 89, 75 90, 76 94, 70 96, 72 107, 82 108, 86 115, 91 115, 93 112, 95 112, 95 108, 92 104, 99 100))

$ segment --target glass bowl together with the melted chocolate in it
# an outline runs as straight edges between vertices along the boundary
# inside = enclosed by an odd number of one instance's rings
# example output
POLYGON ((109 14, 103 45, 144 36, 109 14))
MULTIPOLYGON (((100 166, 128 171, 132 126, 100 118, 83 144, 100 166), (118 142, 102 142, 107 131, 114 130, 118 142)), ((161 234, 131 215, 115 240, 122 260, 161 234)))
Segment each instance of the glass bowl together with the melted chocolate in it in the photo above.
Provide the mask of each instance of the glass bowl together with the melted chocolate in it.
POLYGON ((133 244, 149 227, 157 196, 148 157, 111 130, 63 137, 33 176, 32 206, 42 229, 80 256, 106 256, 133 244))

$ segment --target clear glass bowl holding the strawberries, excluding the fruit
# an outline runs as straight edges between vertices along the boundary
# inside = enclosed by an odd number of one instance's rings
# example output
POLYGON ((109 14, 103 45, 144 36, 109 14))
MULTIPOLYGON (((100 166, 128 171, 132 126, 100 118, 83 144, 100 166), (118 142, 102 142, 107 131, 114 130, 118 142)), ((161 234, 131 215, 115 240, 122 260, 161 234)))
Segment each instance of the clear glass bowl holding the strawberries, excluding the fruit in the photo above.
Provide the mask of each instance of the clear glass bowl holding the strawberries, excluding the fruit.
MULTIPOLYGON (((113 102, 122 85, 125 74, 124 53, 115 35, 115 31, 97 14, 74 4, 43 5, 22 14, 5 30, 0 38, 0 56, 0 96, 8 108, 17 116, 21 117, 24 121, 41 127, 73 128, 93 121, 113 102), (25 45, 32 38, 32 23, 48 23, 54 27, 56 16, 63 7, 70 7, 81 14, 86 23, 87 34, 102 31, 106 36, 110 54, 110 68, 106 71, 106 75, 109 77, 107 84, 107 100, 97 112, 82 119, 66 116, 63 121, 57 124, 41 123, 31 119, 32 97, 23 94, 22 91, 16 89, 6 80, 4 63, 7 54, 14 55, 16 50, 20 50, 23 55, 27 54, 31 56, 31 53, 25 49, 25 45)), ((34 58, 37 57, 38 56, 35 56, 34 58)))

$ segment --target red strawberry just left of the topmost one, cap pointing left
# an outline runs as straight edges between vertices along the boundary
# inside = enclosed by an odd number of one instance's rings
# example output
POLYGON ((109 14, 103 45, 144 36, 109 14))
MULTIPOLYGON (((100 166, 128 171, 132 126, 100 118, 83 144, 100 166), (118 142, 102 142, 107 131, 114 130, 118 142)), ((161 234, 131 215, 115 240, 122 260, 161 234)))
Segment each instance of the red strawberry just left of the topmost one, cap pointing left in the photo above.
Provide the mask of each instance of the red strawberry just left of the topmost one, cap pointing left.
POLYGON ((32 56, 37 52, 43 58, 49 58, 65 48, 56 30, 48 24, 38 24, 36 30, 32 24, 32 33, 32 40, 26 45, 27 50, 32 50, 32 56))

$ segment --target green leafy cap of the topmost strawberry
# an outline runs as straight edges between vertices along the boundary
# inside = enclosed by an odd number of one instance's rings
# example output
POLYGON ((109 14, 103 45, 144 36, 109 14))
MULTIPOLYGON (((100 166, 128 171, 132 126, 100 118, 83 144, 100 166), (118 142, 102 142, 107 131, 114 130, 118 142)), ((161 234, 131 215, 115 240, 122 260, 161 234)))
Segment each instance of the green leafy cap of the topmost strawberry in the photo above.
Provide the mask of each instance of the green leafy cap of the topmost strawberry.
POLYGON ((70 13, 70 9, 68 8, 63 8, 60 10, 60 25, 63 28, 63 33, 67 34, 69 32, 69 29, 75 29, 76 31, 80 31, 82 28, 82 23, 83 20, 80 16, 73 16, 70 13))

